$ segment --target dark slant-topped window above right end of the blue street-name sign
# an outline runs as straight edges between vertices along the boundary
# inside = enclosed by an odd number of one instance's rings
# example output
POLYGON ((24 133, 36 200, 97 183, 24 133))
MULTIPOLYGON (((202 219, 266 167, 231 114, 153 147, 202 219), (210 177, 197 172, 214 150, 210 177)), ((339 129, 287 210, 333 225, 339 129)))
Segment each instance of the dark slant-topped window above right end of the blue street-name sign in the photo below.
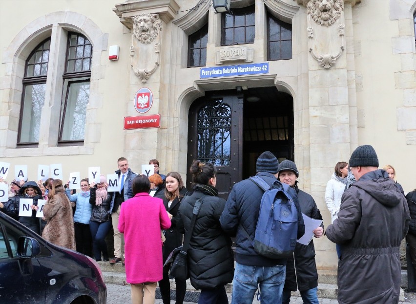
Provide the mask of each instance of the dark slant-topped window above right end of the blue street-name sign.
POLYGON ((292 58, 292 25, 268 14, 268 60, 292 58))

